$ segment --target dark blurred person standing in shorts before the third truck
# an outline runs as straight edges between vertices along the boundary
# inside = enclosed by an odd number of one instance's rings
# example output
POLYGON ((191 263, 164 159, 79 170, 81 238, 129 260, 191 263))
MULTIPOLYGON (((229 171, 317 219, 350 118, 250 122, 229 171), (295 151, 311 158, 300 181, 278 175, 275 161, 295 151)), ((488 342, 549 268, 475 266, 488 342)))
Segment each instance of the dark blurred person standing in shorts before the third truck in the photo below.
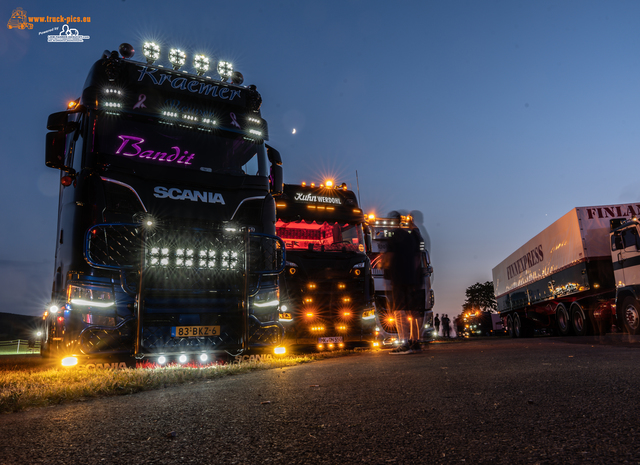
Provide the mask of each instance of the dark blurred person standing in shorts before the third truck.
MULTIPOLYGON (((391 212, 389 217, 400 220, 400 213, 391 212)), ((401 346, 391 351, 392 354, 412 354, 420 351, 418 330, 421 326, 421 316, 419 312, 412 310, 415 290, 422 277, 420 241, 418 233, 397 227, 392 230, 387 244, 384 277, 391 283, 391 309, 396 321, 398 339, 403 341, 401 346)))

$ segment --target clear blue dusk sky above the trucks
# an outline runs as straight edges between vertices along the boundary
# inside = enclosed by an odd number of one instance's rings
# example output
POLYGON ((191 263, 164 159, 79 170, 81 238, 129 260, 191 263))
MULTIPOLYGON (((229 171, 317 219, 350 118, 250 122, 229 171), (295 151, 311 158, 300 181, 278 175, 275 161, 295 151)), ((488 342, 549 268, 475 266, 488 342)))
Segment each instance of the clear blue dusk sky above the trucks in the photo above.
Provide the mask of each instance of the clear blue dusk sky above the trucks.
POLYGON ((638 1, 3 1, 1 312, 51 295, 59 172, 47 117, 123 42, 226 59, 263 98, 285 182, 331 176, 365 212, 419 210, 437 313, 586 205, 640 201, 638 1), (71 23, 83 43, 48 42, 71 23), (47 32, 49 31, 49 32, 47 32), (295 133, 293 133, 295 129, 295 133))

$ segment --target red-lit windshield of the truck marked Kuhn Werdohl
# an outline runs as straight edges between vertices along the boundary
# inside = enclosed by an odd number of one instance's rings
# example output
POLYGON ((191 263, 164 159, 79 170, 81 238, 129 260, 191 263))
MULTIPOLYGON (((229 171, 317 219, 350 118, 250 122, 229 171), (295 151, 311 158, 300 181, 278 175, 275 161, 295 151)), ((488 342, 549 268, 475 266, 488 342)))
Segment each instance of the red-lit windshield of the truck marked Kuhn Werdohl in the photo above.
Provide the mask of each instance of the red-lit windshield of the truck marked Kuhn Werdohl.
POLYGON ((278 220, 276 230, 287 249, 364 252, 362 224, 278 220))

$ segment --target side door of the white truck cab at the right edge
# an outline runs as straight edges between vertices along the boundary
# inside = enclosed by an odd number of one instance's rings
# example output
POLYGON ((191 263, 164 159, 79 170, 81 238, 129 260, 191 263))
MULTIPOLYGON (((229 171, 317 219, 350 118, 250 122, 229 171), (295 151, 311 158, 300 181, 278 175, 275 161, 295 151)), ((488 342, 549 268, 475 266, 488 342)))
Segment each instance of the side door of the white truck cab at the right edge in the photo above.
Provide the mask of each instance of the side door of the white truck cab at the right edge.
POLYGON ((613 234, 611 254, 616 285, 640 283, 640 239, 635 225, 613 234))

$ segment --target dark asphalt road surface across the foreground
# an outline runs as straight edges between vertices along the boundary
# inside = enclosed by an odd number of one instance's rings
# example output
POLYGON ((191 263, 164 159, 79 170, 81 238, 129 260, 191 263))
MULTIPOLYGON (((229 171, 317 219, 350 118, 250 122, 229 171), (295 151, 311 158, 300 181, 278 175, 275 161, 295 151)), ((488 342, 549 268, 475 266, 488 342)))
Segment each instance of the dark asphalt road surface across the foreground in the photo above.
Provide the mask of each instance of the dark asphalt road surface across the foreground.
POLYGON ((640 463, 640 343, 362 352, 0 417, 0 463, 640 463))

